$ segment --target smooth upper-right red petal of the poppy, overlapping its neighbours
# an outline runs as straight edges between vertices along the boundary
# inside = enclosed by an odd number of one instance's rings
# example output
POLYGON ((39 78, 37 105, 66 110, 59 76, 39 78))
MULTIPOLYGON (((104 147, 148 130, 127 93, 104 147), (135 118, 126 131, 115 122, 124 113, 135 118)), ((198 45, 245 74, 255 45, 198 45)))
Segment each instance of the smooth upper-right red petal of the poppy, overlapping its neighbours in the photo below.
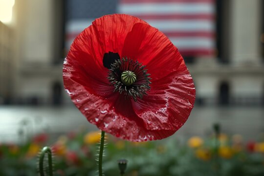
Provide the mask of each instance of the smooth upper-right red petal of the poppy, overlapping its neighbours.
POLYGON ((122 57, 143 63, 153 80, 176 71, 183 60, 176 46, 162 32, 146 23, 134 24, 126 37, 122 57))

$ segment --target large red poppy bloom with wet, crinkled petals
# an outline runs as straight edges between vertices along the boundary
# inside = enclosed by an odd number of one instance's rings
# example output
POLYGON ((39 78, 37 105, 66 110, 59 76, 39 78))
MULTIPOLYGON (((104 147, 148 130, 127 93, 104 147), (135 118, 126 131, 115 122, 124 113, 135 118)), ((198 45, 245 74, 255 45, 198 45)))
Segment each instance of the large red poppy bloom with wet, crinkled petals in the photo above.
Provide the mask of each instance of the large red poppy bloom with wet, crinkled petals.
POLYGON ((130 141, 174 134, 195 101, 192 77, 176 46, 130 15, 103 16, 80 33, 63 78, 90 123, 130 141))

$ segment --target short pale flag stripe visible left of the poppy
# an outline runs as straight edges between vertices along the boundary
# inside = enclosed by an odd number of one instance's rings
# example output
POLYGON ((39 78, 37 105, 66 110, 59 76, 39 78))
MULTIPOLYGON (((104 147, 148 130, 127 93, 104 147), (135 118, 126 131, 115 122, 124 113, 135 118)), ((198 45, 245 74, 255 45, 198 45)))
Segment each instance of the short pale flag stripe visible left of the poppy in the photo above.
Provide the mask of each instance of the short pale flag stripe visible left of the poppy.
POLYGON ((94 19, 76 19, 76 20, 70 20, 66 23, 66 31, 67 33, 73 33, 73 32, 81 32, 85 28, 87 28, 91 23, 94 21, 94 19))

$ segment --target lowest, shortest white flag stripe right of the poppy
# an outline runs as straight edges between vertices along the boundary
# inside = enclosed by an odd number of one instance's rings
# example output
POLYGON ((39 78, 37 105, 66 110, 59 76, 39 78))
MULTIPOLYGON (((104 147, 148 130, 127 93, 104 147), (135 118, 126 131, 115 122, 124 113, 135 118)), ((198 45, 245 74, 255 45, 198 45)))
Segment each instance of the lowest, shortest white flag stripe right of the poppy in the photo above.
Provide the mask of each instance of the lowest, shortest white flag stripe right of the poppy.
POLYGON ((170 37, 171 42, 177 48, 184 49, 200 49, 200 48, 214 48, 215 41, 214 39, 203 38, 203 37, 170 37))

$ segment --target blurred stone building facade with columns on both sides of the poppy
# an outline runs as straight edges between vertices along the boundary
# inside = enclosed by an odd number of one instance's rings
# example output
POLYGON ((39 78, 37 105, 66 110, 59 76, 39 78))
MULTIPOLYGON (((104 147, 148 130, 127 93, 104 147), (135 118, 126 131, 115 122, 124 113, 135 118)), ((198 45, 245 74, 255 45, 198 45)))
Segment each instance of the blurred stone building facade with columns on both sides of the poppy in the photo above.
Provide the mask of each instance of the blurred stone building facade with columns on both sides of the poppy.
MULTIPOLYGON (((15 56, 3 57, 0 47, 2 98, 14 104, 70 103, 62 80, 68 5, 70 0, 16 0, 10 35, 16 41, 15 56), (12 63, 8 71, 3 71, 5 62, 12 63)), ((197 89, 196 103, 263 105, 264 2, 216 0, 215 9, 216 54, 185 58, 197 89)))

